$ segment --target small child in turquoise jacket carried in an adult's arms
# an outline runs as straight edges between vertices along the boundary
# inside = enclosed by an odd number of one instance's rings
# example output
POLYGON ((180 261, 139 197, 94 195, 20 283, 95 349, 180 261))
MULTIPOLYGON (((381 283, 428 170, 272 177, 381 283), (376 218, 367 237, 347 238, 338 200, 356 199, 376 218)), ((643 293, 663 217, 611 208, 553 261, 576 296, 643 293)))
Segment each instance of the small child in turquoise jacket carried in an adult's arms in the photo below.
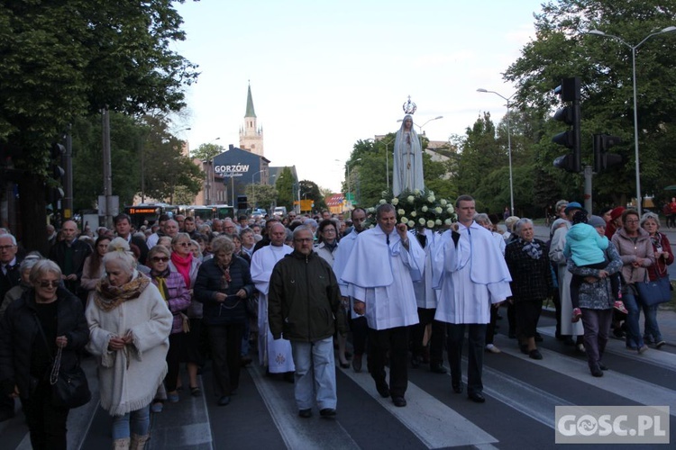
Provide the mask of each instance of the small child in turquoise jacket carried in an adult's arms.
MULTIPOLYGON (((590 269, 603 270, 608 261, 606 259, 606 249, 608 239, 601 237, 597 230, 587 223, 587 211, 575 211, 572 216, 572 227, 566 234, 566 245, 563 247, 563 256, 572 258, 576 266, 587 267, 590 269)), ((580 284, 582 284, 580 275, 572 275, 571 279, 571 303, 572 303, 572 322, 577 322, 582 317, 580 311, 580 284)), ((614 307, 626 314, 625 305, 619 300, 620 284, 619 275, 611 275, 610 284, 612 292, 616 297, 614 307)))

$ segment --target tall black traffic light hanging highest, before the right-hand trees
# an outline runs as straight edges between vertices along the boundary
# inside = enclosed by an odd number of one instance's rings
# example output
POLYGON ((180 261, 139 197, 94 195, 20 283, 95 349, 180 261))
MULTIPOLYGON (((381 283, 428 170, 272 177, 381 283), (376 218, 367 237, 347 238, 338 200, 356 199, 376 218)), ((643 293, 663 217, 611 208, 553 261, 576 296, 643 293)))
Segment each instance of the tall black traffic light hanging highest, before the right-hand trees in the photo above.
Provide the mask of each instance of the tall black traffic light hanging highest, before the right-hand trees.
POLYGON ((554 89, 554 94, 560 94, 562 102, 571 102, 554 113, 555 121, 562 121, 572 125, 572 130, 563 131, 553 137, 552 141, 565 148, 571 148, 572 153, 554 159, 554 167, 566 172, 578 173, 581 170, 580 147, 580 77, 563 78, 561 85, 554 89))

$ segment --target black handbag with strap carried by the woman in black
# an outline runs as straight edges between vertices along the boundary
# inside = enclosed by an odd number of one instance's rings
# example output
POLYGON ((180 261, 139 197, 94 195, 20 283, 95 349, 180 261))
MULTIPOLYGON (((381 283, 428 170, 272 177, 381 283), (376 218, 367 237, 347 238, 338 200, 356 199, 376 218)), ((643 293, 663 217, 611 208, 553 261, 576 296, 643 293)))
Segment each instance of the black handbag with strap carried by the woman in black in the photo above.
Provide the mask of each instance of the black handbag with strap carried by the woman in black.
MULTIPOLYGON (((50 344, 47 342, 47 337, 42 330, 40 320, 37 315, 35 321, 40 329, 40 334, 48 351, 50 344)), ((87 382, 87 374, 80 367, 79 356, 78 365, 71 371, 66 372, 61 370, 61 352, 62 348, 57 348, 56 357, 52 358, 52 365, 50 371, 50 385, 51 385, 51 403, 54 406, 62 408, 78 408, 86 405, 92 398, 92 392, 89 391, 89 383, 87 382)))

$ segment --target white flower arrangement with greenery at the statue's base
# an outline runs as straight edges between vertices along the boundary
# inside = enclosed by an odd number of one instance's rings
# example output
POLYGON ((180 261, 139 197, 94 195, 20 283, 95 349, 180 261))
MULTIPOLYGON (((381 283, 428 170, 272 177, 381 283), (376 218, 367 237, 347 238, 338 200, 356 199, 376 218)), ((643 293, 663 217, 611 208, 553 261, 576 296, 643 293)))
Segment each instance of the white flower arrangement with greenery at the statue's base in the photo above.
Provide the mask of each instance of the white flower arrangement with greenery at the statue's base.
MULTIPOLYGON (((452 222, 458 220, 452 202, 443 198, 436 198, 429 190, 403 191, 397 197, 390 197, 391 193, 384 193, 379 204, 391 203, 397 210, 400 223, 406 223, 409 229, 425 227, 426 229, 447 229, 452 222)), ((375 212, 376 207, 369 208, 375 212)))

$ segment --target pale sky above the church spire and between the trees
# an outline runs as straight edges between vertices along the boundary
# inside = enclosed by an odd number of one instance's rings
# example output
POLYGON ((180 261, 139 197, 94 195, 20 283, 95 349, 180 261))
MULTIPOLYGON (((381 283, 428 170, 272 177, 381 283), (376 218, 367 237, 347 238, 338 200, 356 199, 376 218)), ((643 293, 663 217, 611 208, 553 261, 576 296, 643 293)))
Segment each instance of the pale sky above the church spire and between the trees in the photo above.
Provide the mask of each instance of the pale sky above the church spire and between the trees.
POLYGON ((505 101, 477 89, 514 94, 502 73, 534 39, 541 3, 187 0, 176 4, 187 40, 172 48, 201 75, 174 132, 190 148, 238 146, 251 83, 270 165, 339 192, 353 145, 398 130, 409 95, 431 140, 463 135, 482 112, 498 122, 505 101))

